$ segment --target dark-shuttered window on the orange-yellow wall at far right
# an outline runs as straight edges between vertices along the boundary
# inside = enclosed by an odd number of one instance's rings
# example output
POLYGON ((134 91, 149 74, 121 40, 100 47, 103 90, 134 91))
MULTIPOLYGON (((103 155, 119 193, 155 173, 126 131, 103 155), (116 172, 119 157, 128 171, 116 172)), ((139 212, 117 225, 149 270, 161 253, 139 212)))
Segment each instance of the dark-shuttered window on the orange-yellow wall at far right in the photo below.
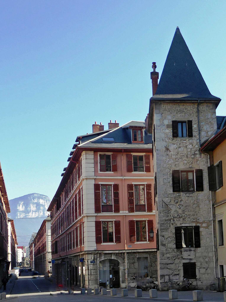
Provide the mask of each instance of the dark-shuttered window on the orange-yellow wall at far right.
POLYGON ((209 190, 216 191, 223 186, 222 161, 208 167, 209 190))

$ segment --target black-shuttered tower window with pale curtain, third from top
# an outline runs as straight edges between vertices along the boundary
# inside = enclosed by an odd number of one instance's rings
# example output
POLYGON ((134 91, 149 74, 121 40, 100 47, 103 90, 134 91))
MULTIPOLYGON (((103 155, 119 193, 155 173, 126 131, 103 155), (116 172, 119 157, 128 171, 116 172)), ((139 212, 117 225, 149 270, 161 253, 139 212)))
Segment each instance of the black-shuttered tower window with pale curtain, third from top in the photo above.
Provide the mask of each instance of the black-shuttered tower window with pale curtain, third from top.
POLYGON ((199 226, 175 227, 176 249, 188 247, 200 247, 199 226))

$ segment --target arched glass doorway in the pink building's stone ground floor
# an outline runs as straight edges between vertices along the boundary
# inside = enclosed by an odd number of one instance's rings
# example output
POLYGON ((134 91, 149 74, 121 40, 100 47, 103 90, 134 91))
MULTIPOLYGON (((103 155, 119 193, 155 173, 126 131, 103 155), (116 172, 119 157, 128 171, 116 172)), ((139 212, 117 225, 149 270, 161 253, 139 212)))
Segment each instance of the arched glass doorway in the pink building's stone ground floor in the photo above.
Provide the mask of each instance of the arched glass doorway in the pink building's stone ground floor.
POLYGON ((109 288, 120 287, 120 264, 115 259, 104 259, 99 262, 100 286, 109 288))

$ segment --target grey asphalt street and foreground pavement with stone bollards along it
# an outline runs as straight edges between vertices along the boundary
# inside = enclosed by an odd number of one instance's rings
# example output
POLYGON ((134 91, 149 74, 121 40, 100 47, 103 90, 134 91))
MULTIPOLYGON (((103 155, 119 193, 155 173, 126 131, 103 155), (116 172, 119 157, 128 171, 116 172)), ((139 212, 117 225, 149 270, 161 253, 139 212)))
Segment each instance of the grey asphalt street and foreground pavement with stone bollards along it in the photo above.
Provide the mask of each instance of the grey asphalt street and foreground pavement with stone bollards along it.
MULTIPOLYGON (((107 290, 107 295, 81 295, 80 291, 74 291, 74 294, 69 295, 68 293, 60 294, 60 290, 55 287, 55 285, 48 279, 41 277, 33 277, 32 273, 22 273, 11 290, 11 293, 7 292, 7 300, 13 300, 15 302, 64 302, 64 301, 74 301, 74 302, 118 302, 121 299, 126 299, 127 302, 132 302, 134 300, 144 301, 171 301, 168 299, 167 291, 158 291, 158 298, 150 299, 149 291, 143 291, 141 298, 135 298, 134 289, 128 291, 128 297, 121 296, 121 290, 117 289, 117 296, 111 296, 110 290, 107 290), (50 295, 50 292, 58 292, 55 295, 50 295), (100 301, 101 300, 101 301, 100 301)), ((192 291, 178 291, 177 302, 188 302, 193 301, 192 291)), ((203 301, 224 301, 223 293, 204 291, 203 301)))

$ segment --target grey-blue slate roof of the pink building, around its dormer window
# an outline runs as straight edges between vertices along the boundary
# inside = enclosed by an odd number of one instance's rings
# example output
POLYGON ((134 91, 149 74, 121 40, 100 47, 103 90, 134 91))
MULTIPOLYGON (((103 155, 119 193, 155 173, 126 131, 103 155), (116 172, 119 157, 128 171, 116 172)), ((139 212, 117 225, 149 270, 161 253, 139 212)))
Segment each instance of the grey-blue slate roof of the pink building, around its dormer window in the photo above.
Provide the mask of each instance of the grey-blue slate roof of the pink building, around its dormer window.
POLYGON ((78 147, 102 147, 102 148, 152 148, 152 135, 144 130, 144 143, 132 143, 131 130, 129 127, 145 127, 145 122, 130 121, 118 128, 112 129, 90 141, 80 144, 78 147), (106 142, 102 137, 113 137, 114 142, 106 142))

